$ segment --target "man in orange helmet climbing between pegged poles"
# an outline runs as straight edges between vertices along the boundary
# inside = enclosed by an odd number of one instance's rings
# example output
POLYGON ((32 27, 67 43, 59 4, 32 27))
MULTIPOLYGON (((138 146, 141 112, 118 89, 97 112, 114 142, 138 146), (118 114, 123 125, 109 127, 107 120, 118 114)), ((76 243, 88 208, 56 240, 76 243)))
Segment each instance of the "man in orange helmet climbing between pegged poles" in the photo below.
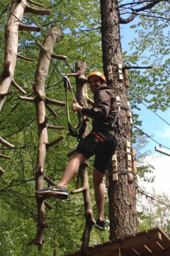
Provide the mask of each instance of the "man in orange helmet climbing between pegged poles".
POLYGON ((94 94, 92 107, 82 107, 77 102, 72 104, 73 112, 92 117, 92 131, 81 140, 75 153, 70 157, 63 177, 58 185, 36 191, 36 195, 52 195, 59 199, 68 198, 67 185, 78 172, 79 166, 86 159, 95 155, 93 169, 93 185, 95 201, 98 210, 98 219, 95 227, 104 230, 104 185, 103 177, 111 163, 112 155, 118 145, 115 122, 118 117, 118 105, 114 90, 106 84, 105 76, 98 71, 89 74, 88 83, 94 94))

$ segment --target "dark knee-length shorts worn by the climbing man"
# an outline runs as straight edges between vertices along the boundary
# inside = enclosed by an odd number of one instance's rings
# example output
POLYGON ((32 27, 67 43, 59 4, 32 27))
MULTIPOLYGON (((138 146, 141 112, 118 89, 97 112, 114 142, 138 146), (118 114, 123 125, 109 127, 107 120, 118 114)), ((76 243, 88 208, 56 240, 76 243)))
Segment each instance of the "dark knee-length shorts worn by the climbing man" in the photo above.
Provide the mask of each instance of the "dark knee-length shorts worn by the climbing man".
POLYGON ((104 138, 101 142, 94 134, 89 133, 81 142, 78 143, 76 152, 82 154, 86 159, 95 155, 94 167, 99 172, 105 173, 109 168, 112 155, 118 145, 118 140, 112 134, 104 131, 97 131, 104 138))

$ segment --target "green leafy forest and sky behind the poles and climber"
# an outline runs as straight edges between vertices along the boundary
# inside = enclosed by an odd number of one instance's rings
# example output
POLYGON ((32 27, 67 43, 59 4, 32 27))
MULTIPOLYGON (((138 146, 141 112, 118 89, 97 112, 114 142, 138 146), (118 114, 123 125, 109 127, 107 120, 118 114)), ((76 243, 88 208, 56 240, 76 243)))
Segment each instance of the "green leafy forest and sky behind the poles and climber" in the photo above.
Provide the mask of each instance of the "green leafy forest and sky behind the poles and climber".
MULTIPOLYGON (((120 1, 127 3, 127 1, 120 1)), ((133 1, 132 1, 133 2, 133 1)), ((57 25, 63 29, 63 38, 55 45, 55 53, 66 55, 67 63, 64 61, 54 61, 55 68, 51 65, 46 81, 46 96, 60 101, 65 101, 62 75, 74 73, 76 61, 86 61, 87 75, 92 70, 102 71, 102 52, 100 34, 100 2, 91 1, 39 1, 44 4, 45 9, 51 9, 49 16, 25 14, 22 22, 26 25, 39 25, 40 32, 32 33, 33 37, 43 42, 43 37, 49 31, 50 26, 57 25), (61 73, 61 74, 60 74, 61 73)), ((141 5, 147 1, 141 1, 141 5)), ((11 8, 11 1, 5 3, 7 8, 11 8)), ((121 9, 122 15, 128 17, 128 12, 121 9)), ((0 1, 0 72, 3 69, 3 58, 5 49, 4 30, 8 20, 9 11, 0 1)), ((152 181, 153 168, 146 161, 149 152, 143 148, 147 143, 146 134, 151 136, 150 130, 144 130, 141 120, 148 116, 149 110, 142 112, 144 116, 138 114, 141 108, 141 101, 147 104, 153 111, 168 111, 170 104, 169 93, 169 54, 170 54, 170 32, 169 1, 163 1, 156 5, 151 14, 144 12, 138 16, 133 24, 121 25, 122 50, 124 54, 124 65, 127 66, 153 66, 152 69, 130 70, 130 88, 128 96, 130 106, 133 111, 133 122, 137 128, 133 128, 133 143, 137 149, 138 176, 146 181, 152 181), (127 29, 128 27, 128 29, 127 29), (125 33, 125 32, 127 33, 125 33), (129 36, 130 35, 130 36, 129 36), (130 45, 129 38, 133 41, 130 45), (126 48, 125 48, 126 44, 126 48), (138 129, 139 128, 139 129, 138 129), (151 176, 147 178, 146 174, 151 176)), ((34 81, 37 60, 40 49, 35 44, 33 38, 27 32, 19 32, 18 53, 29 58, 35 58, 36 62, 25 62, 17 60, 14 78, 17 84, 26 90, 27 96, 33 96, 32 81, 34 81)), ((75 81, 72 80, 74 88, 75 81)), ((9 90, 14 90, 10 87, 9 90)), ((88 90, 89 96, 92 97, 88 90)), ((78 250, 84 230, 84 205, 80 194, 70 196, 68 201, 58 201, 49 199, 53 209, 46 210, 50 227, 45 230, 45 243, 41 250, 35 246, 27 246, 37 230, 37 209, 35 201, 35 166, 37 157, 37 123, 35 116, 35 106, 29 102, 21 102, 18 99, 19 93, 14 91, 12 96, 8 96, 0 113, 0 136, 14 145, 13 150, 1 146, 0 153, 8 154, 12 160, 0 158, 0 166, 6 171, 3 179, 0 179, 0 255, 52 255, 54 248, 58 255, 78 250), (23 204, 24 202, 24 204, 23 204), (53 236, 57 237, 57 242, 53 241, 53 236)), ((72 99, 70 99, 71 105, 72 99)), ((67 137, 66 110, 61 107, 54 107, 58 114, 54 118, 49 114, 49 123, 56 126, 65 126, 64 131, 48 131, 49 141, 65 135, 65 139, 50 148, 46 157, 46 172, 54 182, 60 180, 68 158, 66 153, 75 148, 76 140, 67 137)), ((169 112, 168 112, 169 113, 169 112)), ((76 123, 76 115, 72 115, 76 123)), ((162 120, 161 120, 162 122, 162 120)), ((150 125, 151 126, 151 125, 150 125)), ((154 125, 155 126, 155 125, 154 125)), ((168 125, 167 125, 168 126, 168 125)), ((153 127, 153 125, 152 125, 153 127)), ((154 128, 152 129, 154 131, 154 128)), ((162 129, 164 132, 164 129, 162 129)), ((165 132, 164 132, 165 133, 165 132)), ((162 140, 158 143, 164 145, 162 140)), ((168 141, 167 141, 168 143, 168 141)), ((149 145, 149 144, 148 144, 149 145)), ((168 147, 168 144, 165 146, 168 147)), ((92 190, 92 160, 89 161, 89 184, 92 191, 92 205, 96 216, 94 194, 92 190)), ((69 186, 69 190, 75 189, 76 178, 69 186)), ((47 184, 44 184, 47 186, 47 184)), ((141 184, 139 184, 141 187, 141 184)), ((143 188, 142 188, 143 189, 143 188)), ((139 190, 141 190, 139 188, 139 190)), ((142 190, 145 192, 145 190, 142 190)), ((106 192, 107 194, 107 192, 106 192)), ((152 227, 161 227, 167 235, 169 230, 169 208, 170 200, 164 193, 147 191, 147 195, 157 199, 144 201, 142 193, 137 193, 139 231, 152 227), (142 202, 142 204, 139 202, 142 202), (162 204, 162 202, 164 204, 162 204), (152 206, 152 207, 150 207, 152 206), (154 206, 154 207, 153 207, 154 206), (164 219, 165 218, 165 219, 164 219)), ((107 198, 107 197, 106 197, 107 198)), ((108 221, 108 202, 106 200, 105 216, 108 221)), ((99 244, 108 241, 108 229, 102 233, 92 229, 90 244, 99 244)))

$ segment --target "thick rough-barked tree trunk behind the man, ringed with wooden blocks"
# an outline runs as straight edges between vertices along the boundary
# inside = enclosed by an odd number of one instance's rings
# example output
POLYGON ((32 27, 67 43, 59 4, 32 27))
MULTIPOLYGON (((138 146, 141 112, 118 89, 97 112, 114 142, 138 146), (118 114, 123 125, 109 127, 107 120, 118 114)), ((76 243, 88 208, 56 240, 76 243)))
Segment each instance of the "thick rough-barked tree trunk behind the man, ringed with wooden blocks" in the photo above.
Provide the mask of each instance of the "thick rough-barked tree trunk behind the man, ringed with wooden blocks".
MULTIPOLYGON (((100 2, 104 74, 107 77, 107 84, 115 89, 115 96, 120 96, 121 105, 127 106, 127 88, 124 75, 123 80, 118 78, 118 64, 123 65, 118 2, 117 0, 101 0, 100 2), (109 81, 108 65, 112 66, 113 74, 113 80, 109 81)), ((127 151, 126 142, 131 142, 131 125, 126 112, 127 110, 121 109, 119 117, 120 134, 117 151, 122 152, 117 152, 118 182, 113 182, 112 170, 109 175, 108 195, 111 240, 136 233, 138 228, 135 183, 133 182, 134 179, 129 182, 130 173, 124 172, 127 169, 126 154, 124 153, 124 151, 127 151)))

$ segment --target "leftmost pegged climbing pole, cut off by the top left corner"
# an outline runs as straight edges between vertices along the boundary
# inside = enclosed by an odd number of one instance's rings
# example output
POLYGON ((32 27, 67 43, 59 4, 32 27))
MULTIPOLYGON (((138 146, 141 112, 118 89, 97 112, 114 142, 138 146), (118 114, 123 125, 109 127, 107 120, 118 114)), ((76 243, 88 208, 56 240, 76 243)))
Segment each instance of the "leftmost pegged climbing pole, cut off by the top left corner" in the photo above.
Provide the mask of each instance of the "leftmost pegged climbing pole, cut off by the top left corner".
MULTIPOLYGON (((0 111, 2 109, 3 103, 6 99, 6 96, 13 94, 14 92, 8 92, 9 86, 13 85, 21 94, 26 94, 26 91, 23 90, 15 81, 14 81, 14 70, 17 62, 17 58, 22 58, 26 61, 35 61, 31 58, 26 58, 17 53, 18 48, 18 32, 20 30, 25 31, 40 31, 39 26, 25 26, 22 24, 23 14, 26 12, 39 14, 39 15, 49 15, 50 10, 44 9, 35 9, 30 7, 28 3, 32 3, 36 6, 43 7, 39 3, 35 3, 32 0, 13 0, 12 9, 8 11, 9 19, 5 27, 5 55, 4 55, 4 64, 3 72, 0 77, 0 111)), ((5 6, 5 5, 4 5, 5 6)), ((5 6, 6 7, 6 6, 5 6)), ((7 7, 6 7, 7 8, 7 7)), ((4 140, 0 137, 0 143, 9 149, 14 148, 14 145, 4 140)), ((0 157, 5 159, 11 159, 11 157, 0 154, 0 157)), ((5 171, 0 167, 0 175, 3 175, 5 171)))

